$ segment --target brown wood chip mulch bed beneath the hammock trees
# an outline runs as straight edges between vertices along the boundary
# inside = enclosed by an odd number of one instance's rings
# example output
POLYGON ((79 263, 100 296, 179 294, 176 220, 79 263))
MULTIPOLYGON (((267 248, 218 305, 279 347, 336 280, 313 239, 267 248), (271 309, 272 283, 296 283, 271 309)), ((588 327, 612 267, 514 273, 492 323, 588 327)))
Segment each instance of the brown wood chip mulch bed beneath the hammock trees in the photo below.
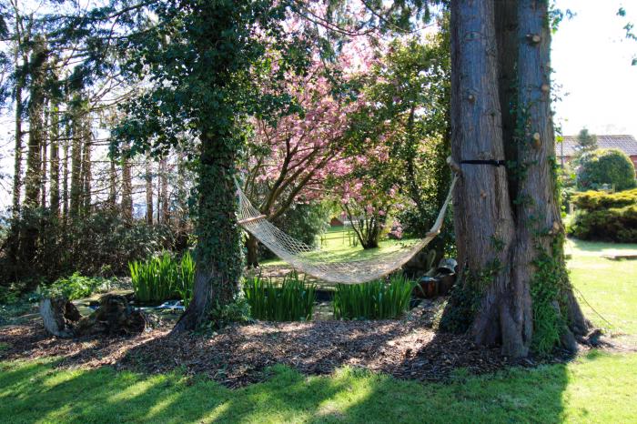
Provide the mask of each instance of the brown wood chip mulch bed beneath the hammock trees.
POLYGON ((467 338, 424 328, 418 320, 258 322, 213 336, 170 336, 169 328, 141 335, 60 339, 42 325, 0 328, 0 359, 61 358, 58 367, 113 366, 150 373, 174 368, 205 374, 227 387, 266 378, 264 370, 285 364, 304 374, 329 374, 344 365, 399 379, 446 380, 457 368, 483 374, 513 363, 497 348, 477 348, 467 338))

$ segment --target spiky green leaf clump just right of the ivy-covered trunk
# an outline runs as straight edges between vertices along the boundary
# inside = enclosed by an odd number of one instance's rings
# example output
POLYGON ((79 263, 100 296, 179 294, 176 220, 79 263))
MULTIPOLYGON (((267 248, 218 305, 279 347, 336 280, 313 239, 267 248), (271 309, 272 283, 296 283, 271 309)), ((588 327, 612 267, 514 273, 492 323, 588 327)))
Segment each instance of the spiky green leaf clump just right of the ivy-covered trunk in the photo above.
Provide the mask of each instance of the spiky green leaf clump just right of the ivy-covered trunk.
POLYGON ((278 285, 272 279, 256 276, 249 279, 243 291, 253 318, 269 321, 308 321, 314 313, 316 286, 306 285, 293 272, 278 285))

